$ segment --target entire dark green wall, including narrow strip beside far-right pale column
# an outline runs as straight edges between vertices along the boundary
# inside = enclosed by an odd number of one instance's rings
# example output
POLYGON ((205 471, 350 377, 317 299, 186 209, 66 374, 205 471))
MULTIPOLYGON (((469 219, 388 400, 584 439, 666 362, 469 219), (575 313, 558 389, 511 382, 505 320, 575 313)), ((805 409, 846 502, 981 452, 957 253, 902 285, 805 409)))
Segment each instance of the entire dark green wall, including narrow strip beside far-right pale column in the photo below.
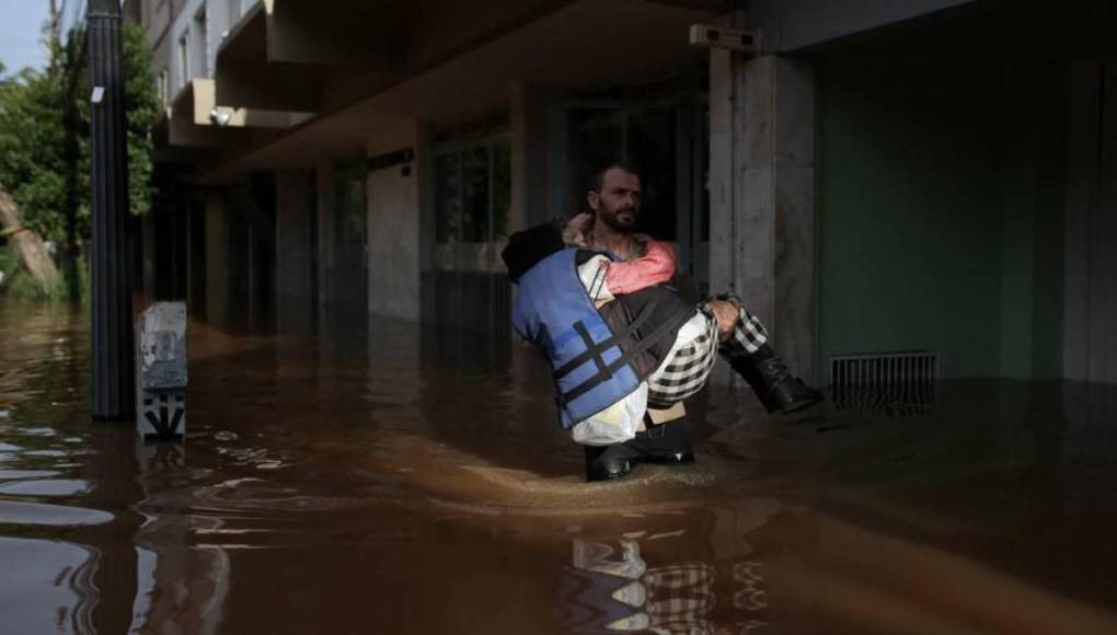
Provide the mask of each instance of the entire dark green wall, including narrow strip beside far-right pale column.
POLYGON ((817 62, 819 367, 927 349, 948 377, 1061 374, 1066 66, 817 62))

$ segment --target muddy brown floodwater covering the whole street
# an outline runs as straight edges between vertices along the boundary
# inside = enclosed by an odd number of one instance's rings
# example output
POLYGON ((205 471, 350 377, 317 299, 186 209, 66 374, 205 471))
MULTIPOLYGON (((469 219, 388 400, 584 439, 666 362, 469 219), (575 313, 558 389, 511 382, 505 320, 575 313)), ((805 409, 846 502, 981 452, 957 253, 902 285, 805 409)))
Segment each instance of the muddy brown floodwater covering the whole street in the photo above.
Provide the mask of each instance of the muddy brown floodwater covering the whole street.
POLYGON ((88 420, 88 316, 0 304, 0 633, 1117 633, 1117 391, 693 404, 582 482, 528 350, 191 326, 185 443, 88 420))

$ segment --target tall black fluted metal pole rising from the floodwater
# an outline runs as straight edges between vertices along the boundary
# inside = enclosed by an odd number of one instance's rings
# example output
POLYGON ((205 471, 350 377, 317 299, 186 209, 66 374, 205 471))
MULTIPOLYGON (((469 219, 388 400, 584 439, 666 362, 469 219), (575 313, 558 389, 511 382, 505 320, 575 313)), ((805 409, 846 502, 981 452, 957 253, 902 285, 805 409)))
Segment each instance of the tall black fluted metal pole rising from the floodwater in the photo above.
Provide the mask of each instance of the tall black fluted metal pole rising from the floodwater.
POLYGON ((121 2, 88 0, 93 220, 93 418, 134 416, 132 285, 126 235, 128 164, 121 2))

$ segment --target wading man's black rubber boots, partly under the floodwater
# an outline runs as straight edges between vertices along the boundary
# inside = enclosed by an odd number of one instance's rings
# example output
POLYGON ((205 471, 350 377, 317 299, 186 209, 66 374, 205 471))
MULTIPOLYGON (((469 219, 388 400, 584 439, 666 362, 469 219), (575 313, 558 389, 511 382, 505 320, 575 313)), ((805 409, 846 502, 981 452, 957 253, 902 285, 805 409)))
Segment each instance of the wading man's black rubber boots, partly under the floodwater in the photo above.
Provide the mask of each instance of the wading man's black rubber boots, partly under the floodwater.
POLYGON ((632 471, 638 463, 691 463, 695 460, 690 420, 681 416, 636 433, 617 445, 586 445, 585 480, 610 481, 632 471))

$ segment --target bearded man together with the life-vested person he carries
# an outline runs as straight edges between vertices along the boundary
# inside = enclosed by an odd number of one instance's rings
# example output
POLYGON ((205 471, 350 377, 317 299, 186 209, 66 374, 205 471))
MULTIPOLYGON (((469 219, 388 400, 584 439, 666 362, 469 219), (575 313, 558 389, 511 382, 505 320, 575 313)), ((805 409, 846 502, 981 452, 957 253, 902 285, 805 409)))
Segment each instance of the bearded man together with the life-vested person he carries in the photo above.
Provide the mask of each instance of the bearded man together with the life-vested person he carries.
POLYGON ((588 203, 592 213, 565 228, 517 232, 502 253, 519 283, 513 324, 548 358, 560 420, 585 448, 588 480, 622 477, 637 463, 694 461, 682 400, 705 385, 715 353, 768 412, 821 400, 789 373, 738 299, 726 295, 696 307, 662 286, 675 277, 675 257, 633 231, 640 214, 633 169, 598 172, 588 203), (613 434, 621 406, 639 407, 639 421, 613 434))

